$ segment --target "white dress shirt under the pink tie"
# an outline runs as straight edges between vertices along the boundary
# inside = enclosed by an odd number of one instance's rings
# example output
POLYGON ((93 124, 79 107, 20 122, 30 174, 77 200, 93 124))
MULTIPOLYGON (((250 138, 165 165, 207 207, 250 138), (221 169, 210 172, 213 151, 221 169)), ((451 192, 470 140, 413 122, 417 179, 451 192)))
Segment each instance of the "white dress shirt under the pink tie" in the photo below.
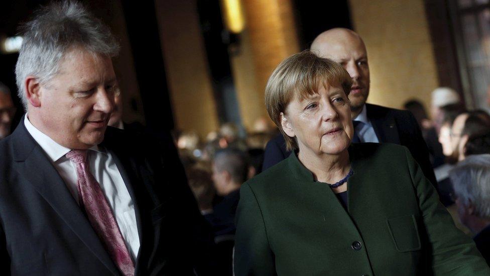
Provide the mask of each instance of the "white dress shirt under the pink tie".
MULTIPOLYGON (((67 154, 71 149, 65 148, 49 138, 34 127, 27 114, 24 119, 27 131, 46 152, 51 163, 65 181, 68 190, 78 203, 77 174, 75 164, 68 159, 67 154)), ((117 169, 114 156, 104 148, 97 145, 91 147, 87 153, 90 172, 100 185, 100 189, 112 209, 122 237, 133 259, 136 260, 140 250, 140 238, 136 223, 135 206, 126 188, 124 180, 117 169)), ((80 204, 80 203, 78 203, 80 204)))

